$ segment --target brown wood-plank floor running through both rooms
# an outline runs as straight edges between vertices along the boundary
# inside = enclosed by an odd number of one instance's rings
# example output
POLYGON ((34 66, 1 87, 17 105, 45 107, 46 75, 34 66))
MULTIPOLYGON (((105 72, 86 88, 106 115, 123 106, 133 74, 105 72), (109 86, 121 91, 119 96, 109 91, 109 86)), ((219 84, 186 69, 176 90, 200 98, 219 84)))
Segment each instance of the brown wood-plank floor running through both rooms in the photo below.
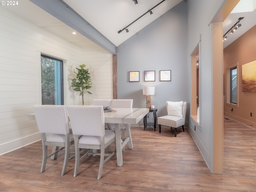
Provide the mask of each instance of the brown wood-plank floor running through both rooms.
MULTIPOLYGON (((210 173, 187 129, 132 127, 134 149, 123 152, 124 164, 116 166, 116 155, 104 164, 97 180, 99 156, 85 158, 79 174, 74 159, 60 175, 61 153, 48 159, 40 173, 42 146, 36 142, 0 156, 1 192, 253 192, 256 191, 256 130, 224 119, 224 173, 210 173)), ((110 148, 114 148, 112 145, 110 148)))

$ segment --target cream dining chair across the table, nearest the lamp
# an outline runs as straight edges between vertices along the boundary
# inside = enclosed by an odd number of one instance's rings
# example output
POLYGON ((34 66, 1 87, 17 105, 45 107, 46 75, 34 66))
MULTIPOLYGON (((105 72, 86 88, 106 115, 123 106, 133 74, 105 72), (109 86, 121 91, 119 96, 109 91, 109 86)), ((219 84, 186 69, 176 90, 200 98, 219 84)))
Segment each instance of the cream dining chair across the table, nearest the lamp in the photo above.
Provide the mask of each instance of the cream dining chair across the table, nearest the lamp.
MULTIPOLYGON (((133 104, 133 99, 113 99, 112 100, 112 108, 132 108, 132 104, 133 104)), ((115 130, 115 124, 110 123, 109 125, 111 127, 110 128, 111 130, 115 130)), ((131 129, 130 124, 120 124, 120 130, 122 131, 122 140, 125 139, 125 130, 126 130, 126 134, 128 134, 130 133, 130 129, 131 129)))

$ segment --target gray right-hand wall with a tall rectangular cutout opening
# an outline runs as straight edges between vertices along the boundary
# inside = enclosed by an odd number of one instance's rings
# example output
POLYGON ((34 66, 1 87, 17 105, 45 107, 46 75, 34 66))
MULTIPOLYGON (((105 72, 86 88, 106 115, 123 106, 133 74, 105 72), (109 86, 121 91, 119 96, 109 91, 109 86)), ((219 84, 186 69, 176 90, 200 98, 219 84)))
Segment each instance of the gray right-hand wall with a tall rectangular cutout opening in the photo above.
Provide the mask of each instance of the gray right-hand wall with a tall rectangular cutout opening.
MULTIPOLYGON (((200 58, 200 126, 190 118, 189 130, 210 171, 213 170, 212 120, 212 25, 210 24, 226 0, 188 0, 188 63, 201 35, 200 58), (196 126, 196 131, 194 130, 196 126)), ((222 70, 222 68, 220 68, 222 70)), ((190 73, 188 74, 191 78, 190 73)), ((221 77, 220 77, 221 78, 221 77)), ((223 85, 220 85, 223 86, 223 85)), ((222 93, 220 93, 222 94, 222 93)), ((222 101, 220 101, 222 102, 222 101)))

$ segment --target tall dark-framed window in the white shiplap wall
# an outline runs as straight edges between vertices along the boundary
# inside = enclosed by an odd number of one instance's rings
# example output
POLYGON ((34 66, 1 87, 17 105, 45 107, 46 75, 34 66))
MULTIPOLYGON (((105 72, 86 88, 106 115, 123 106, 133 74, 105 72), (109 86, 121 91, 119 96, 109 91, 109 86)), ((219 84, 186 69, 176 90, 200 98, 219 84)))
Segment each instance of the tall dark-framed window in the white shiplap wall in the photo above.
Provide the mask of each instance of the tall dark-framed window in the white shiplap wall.
POLYGON ((43 105, 63 105, 63 61, 41 55, 43 105))

